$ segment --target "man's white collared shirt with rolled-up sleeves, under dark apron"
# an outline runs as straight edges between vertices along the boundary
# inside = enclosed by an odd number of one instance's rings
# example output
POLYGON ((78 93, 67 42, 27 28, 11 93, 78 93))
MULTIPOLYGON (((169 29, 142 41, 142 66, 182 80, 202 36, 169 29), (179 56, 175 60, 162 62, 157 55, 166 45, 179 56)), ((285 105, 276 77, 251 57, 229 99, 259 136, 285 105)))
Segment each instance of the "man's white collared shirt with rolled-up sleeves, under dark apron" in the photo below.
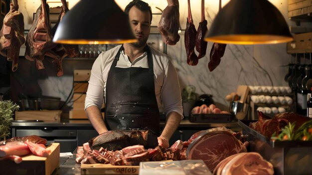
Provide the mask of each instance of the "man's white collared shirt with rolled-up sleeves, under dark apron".
MULTIPOLYGON (((106 82, 113 60, 120 49, 118 45, 110 50, 102 52, 94 61, 85 100, 85 110, 89 106, 97 106, 101 109, 104 102, 106 82)), ((182 98, 177 73, 168 55, 151 47, 154 64, 155 95, 160 112, 169 114, 177 112, 182 116, 182 98)), ((128 56, 121 51, 116 67, 142 67, 149 68, 147 52, 143 53, 131 63, 128 56)))

